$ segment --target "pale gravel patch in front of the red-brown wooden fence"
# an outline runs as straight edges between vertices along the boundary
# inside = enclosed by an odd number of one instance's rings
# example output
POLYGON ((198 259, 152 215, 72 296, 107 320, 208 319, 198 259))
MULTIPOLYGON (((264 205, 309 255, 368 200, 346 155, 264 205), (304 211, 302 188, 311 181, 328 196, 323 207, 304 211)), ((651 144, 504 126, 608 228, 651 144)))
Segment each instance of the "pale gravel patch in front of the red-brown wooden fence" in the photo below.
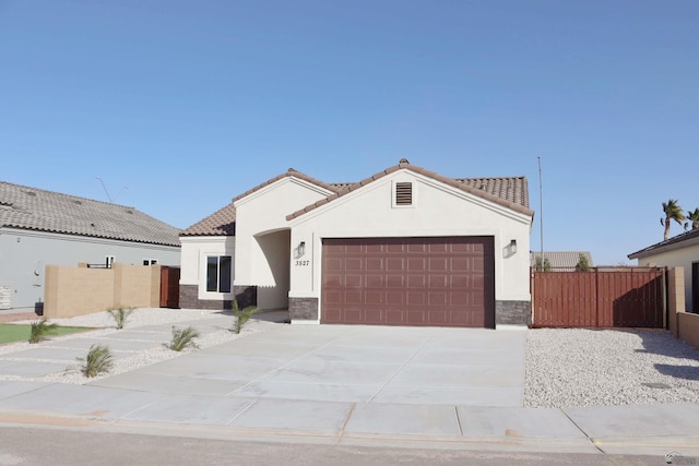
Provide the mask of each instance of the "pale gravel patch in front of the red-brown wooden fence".
POLYGON ((699 403, 699 350, 654 330, 528 333, 524 406, 699 403))

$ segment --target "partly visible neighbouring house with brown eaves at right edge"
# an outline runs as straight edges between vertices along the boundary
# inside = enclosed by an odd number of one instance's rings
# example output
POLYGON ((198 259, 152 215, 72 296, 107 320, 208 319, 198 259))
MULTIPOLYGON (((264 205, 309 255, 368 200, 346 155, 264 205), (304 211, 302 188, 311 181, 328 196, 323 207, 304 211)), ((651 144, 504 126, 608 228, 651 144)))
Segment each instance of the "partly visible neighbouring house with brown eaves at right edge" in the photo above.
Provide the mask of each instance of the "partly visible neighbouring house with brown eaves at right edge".
POLYGON ((638 260, 642 266, 683 267, 686 311, 699 311, 699 229, 649 246, 628 258, 638 260))

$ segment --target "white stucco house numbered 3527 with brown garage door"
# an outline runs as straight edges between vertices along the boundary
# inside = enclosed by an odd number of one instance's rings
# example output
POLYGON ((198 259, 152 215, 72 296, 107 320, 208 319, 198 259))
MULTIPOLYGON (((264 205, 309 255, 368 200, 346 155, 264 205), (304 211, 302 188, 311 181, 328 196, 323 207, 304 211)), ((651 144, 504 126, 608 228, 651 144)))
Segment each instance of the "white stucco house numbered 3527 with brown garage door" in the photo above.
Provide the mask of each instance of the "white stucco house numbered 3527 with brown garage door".
POLYGON ((180 307, 288 309, 293 323, 528 324, 524 177, 402 159, 357 183, 289 169, 182 231, 180 307))

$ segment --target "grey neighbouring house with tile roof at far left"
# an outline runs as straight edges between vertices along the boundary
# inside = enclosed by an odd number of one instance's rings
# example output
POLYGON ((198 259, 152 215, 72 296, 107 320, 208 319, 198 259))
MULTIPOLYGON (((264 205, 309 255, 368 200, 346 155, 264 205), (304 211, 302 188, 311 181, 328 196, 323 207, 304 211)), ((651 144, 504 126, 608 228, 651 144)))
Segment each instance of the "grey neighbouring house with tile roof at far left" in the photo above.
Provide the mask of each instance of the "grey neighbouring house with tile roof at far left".
POLYGON ((0 181, 0 308, 44 300, 46 265, 179 265, 179 229, 133 207, 0 181))

